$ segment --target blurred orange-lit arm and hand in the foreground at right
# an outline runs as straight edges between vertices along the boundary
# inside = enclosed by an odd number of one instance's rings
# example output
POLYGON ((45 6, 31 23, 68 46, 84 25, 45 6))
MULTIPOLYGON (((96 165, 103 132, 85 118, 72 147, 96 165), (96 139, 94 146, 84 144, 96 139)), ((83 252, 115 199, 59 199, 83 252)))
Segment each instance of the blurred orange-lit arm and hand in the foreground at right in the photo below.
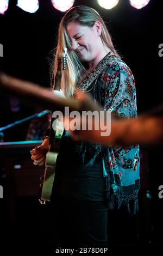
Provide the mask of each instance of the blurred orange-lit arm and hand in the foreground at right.
MULTIPOLYGON (((77 93, 76 99, 82 102, 86 109, 91 111, 103 111, 101 106, 91 101, 90 95, 77 93)), ((80 119, 82 120, 82 119, 80 119)), ((96 120, 98 121, 98 120, 96 120)), ((95 119, 94 119, 95 122, 95 119)), ((111 133, 109 136, 102 136, 104 130, 71 130, 72 138, 75 141, 85 140, 89 142, 101 143, 105 146, 111 145, 162 145, 163 144, 163 106, 156 107, 147 114, 139 115, 138 119, 111 117, 111 133)), ((94 126, 92 125, 94 128, 94 126)))

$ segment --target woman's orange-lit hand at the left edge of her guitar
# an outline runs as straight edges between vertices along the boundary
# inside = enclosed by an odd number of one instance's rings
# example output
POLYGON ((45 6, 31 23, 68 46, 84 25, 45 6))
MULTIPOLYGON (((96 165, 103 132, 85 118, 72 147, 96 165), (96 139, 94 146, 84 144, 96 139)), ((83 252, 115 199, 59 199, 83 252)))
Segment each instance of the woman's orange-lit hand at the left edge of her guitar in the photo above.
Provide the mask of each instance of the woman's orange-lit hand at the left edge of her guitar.
POLYGON ((41 145, 35 147, 30 150, 31 159, 34 161, 33 163, 38 166, 42 166, 45 164, 46 153, 49 150, 49 139, 44 139, 41 145))

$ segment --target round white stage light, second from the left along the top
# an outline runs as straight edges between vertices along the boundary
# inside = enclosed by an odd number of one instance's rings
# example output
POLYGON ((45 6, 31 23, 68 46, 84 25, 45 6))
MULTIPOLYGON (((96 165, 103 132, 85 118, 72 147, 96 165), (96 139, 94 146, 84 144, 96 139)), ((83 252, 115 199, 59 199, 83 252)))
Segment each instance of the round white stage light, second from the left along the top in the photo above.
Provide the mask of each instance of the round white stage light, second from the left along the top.
POLYGON ((35 13, 39 9, 38 0, 18 0, 17 6, 28 13, 35 13))

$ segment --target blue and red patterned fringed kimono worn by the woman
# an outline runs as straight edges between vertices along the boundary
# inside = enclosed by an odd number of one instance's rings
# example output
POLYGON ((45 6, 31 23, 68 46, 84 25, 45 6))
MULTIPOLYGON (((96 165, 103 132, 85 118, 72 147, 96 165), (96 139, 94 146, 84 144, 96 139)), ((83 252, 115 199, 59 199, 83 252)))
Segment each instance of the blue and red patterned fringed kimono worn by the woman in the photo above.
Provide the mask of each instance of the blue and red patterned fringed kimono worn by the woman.
MULTIPOLYGON (((105 111, 133 120, 137 118, 134 76, 120 58, 107 54, 78 84, 78 89, 86 92, 92 83, 101 88, 105 111)), ((135 214, 138 211, 137 193, 140 188, 139 145, 109 147, 104 152, 106 202, 109 201, 111 193, 114 193, 118 208, 127 205, 129 213, 132 211, 135 214), (134 203, 132 210, 130 200, 134 203)))

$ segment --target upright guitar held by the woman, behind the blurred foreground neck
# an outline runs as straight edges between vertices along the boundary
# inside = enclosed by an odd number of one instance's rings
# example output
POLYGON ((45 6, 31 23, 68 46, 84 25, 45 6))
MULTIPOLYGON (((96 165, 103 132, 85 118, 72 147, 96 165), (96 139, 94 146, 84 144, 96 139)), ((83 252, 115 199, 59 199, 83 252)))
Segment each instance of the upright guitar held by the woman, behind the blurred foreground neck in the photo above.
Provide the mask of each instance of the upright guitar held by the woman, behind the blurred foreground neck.
MULTIPOLYGON (((55 90, 60 90, 60 82, 61 82, 61 69, 65 70, 67 65, 67 49, 65 48, 62 56, 58 56, 58 69, 57 74, 55 76, 55 90)), ((55 91, 54 91, 55 92, 55 91)), ((53 182, 55 177, 55 167, 57 162, 57 157, 59 154, 59 148, 61 143, 62 133, 64 132, 64 123, 59 118, 51 119, 51 131, 49 136, 49 151, 46 154, 45 160, 45 174, 43 179, 42 193, 41 193, 41 204, 45 204, 46 201, 51 201, 51 195, 53 190, 53 182), (52 127, 53 124, 53 127, 52 127)))

